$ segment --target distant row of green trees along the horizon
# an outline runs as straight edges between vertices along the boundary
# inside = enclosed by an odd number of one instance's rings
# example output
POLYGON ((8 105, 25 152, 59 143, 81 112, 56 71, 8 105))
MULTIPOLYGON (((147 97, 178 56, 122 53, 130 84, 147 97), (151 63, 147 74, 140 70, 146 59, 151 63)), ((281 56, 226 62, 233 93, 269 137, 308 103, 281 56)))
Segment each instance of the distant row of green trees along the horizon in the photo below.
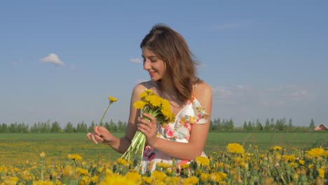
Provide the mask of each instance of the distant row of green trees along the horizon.
MULTIPOLYGON (((34 125, 29 125, 25 123, 11 123, 7 125, 6 123, 2 123, 0 125, 0 133, 59 133, 59 132, 92 132, 93 127, 95 125, 102 125, 111 132, 123 132, 125 131, 126 122, 118 121, 114 123, 114 121, 109 121, 105 123, 92 122, 90 125, 87 125, 82 121, 82 123, 78 123, 77 125, 73 125, 71 122, 67 123, 64 128, 60 126, 60 123, 57 121, 46 121, 34 123, 34 125)), ((210 122, 210 132, 216 131, 247 131, 247 132, 275 132, 275 131, 310 131, 314 130, 315 123, 313 118, 311 118, 308 126, 295 126, 292 124, 292 119, 286 121, 286 118, 274 120, 271 118, 270 120, 267 118, 265 123, 261 123, 259 119, 257 121, 245 121, 242 127, 235 127, 235 123, 233 119, 225 120, 216 118, 210 122)))

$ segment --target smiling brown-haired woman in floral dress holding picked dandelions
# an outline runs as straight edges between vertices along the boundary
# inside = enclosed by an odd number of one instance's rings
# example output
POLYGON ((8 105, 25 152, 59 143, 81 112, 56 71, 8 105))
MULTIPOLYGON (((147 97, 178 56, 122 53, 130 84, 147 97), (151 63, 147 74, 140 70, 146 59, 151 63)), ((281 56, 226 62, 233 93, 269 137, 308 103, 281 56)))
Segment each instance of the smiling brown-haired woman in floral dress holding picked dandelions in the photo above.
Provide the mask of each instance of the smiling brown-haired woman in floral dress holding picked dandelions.
POLYGON ((135 86, 130 100, 130 116, 125 137, 117 138, 104 127, 95 126, 88 139, 108 144, 124 153, 130 146, 137 130, 146 136, 142 166, 145 170, 152 162, 177 165, 188 163, 198 156, 205 156, 203 149, 210 126, 212 111, 212 89, 196 76, 196 62, 184 38, 166 25, 155 25, 142 43, 144 70, 151 81, 135 86), (140 118, 133 104, 140 100, 139 94, 150 89, 170 102, 175 123, 158 128, 156 118, 144 114, 151 121, 140 118))

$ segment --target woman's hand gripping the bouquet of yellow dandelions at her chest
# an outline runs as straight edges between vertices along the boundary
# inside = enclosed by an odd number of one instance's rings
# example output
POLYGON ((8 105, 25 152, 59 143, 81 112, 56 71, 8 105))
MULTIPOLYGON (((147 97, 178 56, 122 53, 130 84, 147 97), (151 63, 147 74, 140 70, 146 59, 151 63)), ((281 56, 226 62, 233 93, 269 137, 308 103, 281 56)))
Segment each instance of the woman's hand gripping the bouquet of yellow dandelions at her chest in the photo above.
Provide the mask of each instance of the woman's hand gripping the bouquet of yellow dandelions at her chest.
POLYGON ((149 118, 150 121, 139 117, 137 128, 146 136, 146 144, 153 147, 158 139, 156 118, 146 113, 144 113, 143 116, 149 118))

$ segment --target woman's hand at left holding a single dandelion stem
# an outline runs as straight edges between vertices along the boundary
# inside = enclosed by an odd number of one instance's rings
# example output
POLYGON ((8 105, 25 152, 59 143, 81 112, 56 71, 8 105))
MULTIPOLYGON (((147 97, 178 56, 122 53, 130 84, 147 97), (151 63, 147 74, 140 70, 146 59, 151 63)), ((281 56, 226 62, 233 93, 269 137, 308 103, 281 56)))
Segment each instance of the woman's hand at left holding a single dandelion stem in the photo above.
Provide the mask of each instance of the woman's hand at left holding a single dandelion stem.
POLYGON ((112 135, 111 132, 103 126, 95 126, 93 128, 93 132, 88 132, 86 137, 95 144, 98 144, 98 142, 109 144, 114 141, 114 135, 112 135))

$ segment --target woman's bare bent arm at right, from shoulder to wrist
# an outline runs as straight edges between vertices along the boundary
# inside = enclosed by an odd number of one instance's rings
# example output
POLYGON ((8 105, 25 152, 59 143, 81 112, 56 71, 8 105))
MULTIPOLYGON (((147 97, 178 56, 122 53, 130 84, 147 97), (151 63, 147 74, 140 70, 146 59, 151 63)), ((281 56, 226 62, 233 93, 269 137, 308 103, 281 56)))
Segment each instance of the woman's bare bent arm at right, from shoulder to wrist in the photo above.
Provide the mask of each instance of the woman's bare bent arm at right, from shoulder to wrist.
MULTIPOLYGON (((207 114, 211 116, 212 88, 210 88, 210 85, 207 85, 205 82, 199 83, 196 89, 196 97, 207 114)), ((164 153, 168 153, 170 156, 174 156, 176 158, 192 160, 201 155, 205 147, 209 127, 210 117, 207 123, 193 124, 191 126, 191 137, 189 139, 189 143, 168 141, 154 137, 153 135, 148 134, 146 130, 144 130, 144 132, 148 135, 148 144, 153 148, 163 151, 164 153)))

